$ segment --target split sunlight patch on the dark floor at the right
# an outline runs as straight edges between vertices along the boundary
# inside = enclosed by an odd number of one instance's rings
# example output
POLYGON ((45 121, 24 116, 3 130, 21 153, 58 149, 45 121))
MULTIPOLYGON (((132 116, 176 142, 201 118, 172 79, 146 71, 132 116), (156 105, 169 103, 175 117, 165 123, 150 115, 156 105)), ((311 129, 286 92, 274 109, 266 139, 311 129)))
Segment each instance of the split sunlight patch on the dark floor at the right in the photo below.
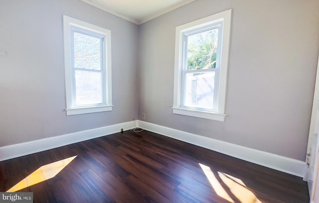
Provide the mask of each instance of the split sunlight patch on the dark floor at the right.
POLYGON ((231 203, 234 203, 234 200, 230 196, 235 196, 236 199, 239 200, 241 203, 262 203, 260 200, 258 200, 258 198, 254 195, 254 193, 251 192, 246 187, 246 185, 240 179, 225 173, 221 173, 219 171, 217 172, 217 174, 214 174, 211 171, 210 167, 200 163, 199 163, 199 166, 203 170, 209 183, 211 184, 214 191, 219 197, 231 203), (220 181, 218 181, 218 179, 216 178, 216 175, 218 175, 217 178, 221 180, 223 185, 226 185, 227 187, 225 186, 223 187, 221 185, 220 181), (228 193, 225 189, 228 191, 228 193))

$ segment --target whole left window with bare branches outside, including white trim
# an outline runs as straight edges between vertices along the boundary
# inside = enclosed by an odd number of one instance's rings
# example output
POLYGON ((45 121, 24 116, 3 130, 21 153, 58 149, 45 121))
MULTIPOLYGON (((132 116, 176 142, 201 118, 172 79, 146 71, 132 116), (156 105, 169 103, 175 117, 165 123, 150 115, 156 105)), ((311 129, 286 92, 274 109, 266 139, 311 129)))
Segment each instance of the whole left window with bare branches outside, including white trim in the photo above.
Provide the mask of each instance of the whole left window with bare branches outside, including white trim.
POLYGON ((111 31, 63 15, 67 115, 112 110, 111 31))

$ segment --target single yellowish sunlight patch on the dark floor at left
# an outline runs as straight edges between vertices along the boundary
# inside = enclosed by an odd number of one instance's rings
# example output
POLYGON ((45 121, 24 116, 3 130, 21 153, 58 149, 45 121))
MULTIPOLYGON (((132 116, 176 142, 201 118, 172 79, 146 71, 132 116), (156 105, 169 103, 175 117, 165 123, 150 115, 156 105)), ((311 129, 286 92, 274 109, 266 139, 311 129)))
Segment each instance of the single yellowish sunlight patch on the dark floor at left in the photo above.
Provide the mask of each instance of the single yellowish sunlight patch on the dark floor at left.
POLYGON ((41 166, 6 192, 16 192, 53 178, 60 171, 62 171, 71 161, 73 161, 75 157, 77 157, 77 155, 41 166))

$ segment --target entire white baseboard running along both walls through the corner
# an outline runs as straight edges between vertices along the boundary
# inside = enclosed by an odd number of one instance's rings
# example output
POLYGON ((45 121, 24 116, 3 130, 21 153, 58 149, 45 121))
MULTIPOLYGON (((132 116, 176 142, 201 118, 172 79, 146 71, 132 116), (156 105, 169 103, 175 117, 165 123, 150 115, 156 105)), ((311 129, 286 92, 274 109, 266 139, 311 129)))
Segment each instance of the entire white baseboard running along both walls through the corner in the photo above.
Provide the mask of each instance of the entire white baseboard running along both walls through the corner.
POLYGON ((121 128, 123 128, 124 130, 128 130, 138 126, 143 129, 165 135, 167 137, 178 139, 190 144, 204 147, 206 149, 220 152, 232 157, 236 157, 295 176, 305 178, 305 174, 307 172, 307 164, 303 161, 239 146, 236 144, 231 144, 228 142, 223 142, 220 140, 215 140, 212 138, 160 126, 149 122, 144 122, 141 120, 138 120, 137 123, 138 125, 136 125, 135 121, 129 121, 125 123, 119 123, 55 137, 3 146, 0 147, 0 161, 45 151, 48 149, 53 149, 105 135, 110 135, 116 132, 120 132, 121 128))

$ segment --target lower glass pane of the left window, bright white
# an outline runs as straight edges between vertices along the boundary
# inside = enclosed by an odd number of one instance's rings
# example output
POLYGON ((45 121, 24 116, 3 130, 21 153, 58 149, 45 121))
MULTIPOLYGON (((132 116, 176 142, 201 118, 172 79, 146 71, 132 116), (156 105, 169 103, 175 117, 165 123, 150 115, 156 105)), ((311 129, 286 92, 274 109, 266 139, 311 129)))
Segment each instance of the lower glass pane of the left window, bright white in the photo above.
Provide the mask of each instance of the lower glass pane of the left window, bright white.
POLYGON ((75 71, 76 105, 102 103, 101 80, 100 72, 75 71))

